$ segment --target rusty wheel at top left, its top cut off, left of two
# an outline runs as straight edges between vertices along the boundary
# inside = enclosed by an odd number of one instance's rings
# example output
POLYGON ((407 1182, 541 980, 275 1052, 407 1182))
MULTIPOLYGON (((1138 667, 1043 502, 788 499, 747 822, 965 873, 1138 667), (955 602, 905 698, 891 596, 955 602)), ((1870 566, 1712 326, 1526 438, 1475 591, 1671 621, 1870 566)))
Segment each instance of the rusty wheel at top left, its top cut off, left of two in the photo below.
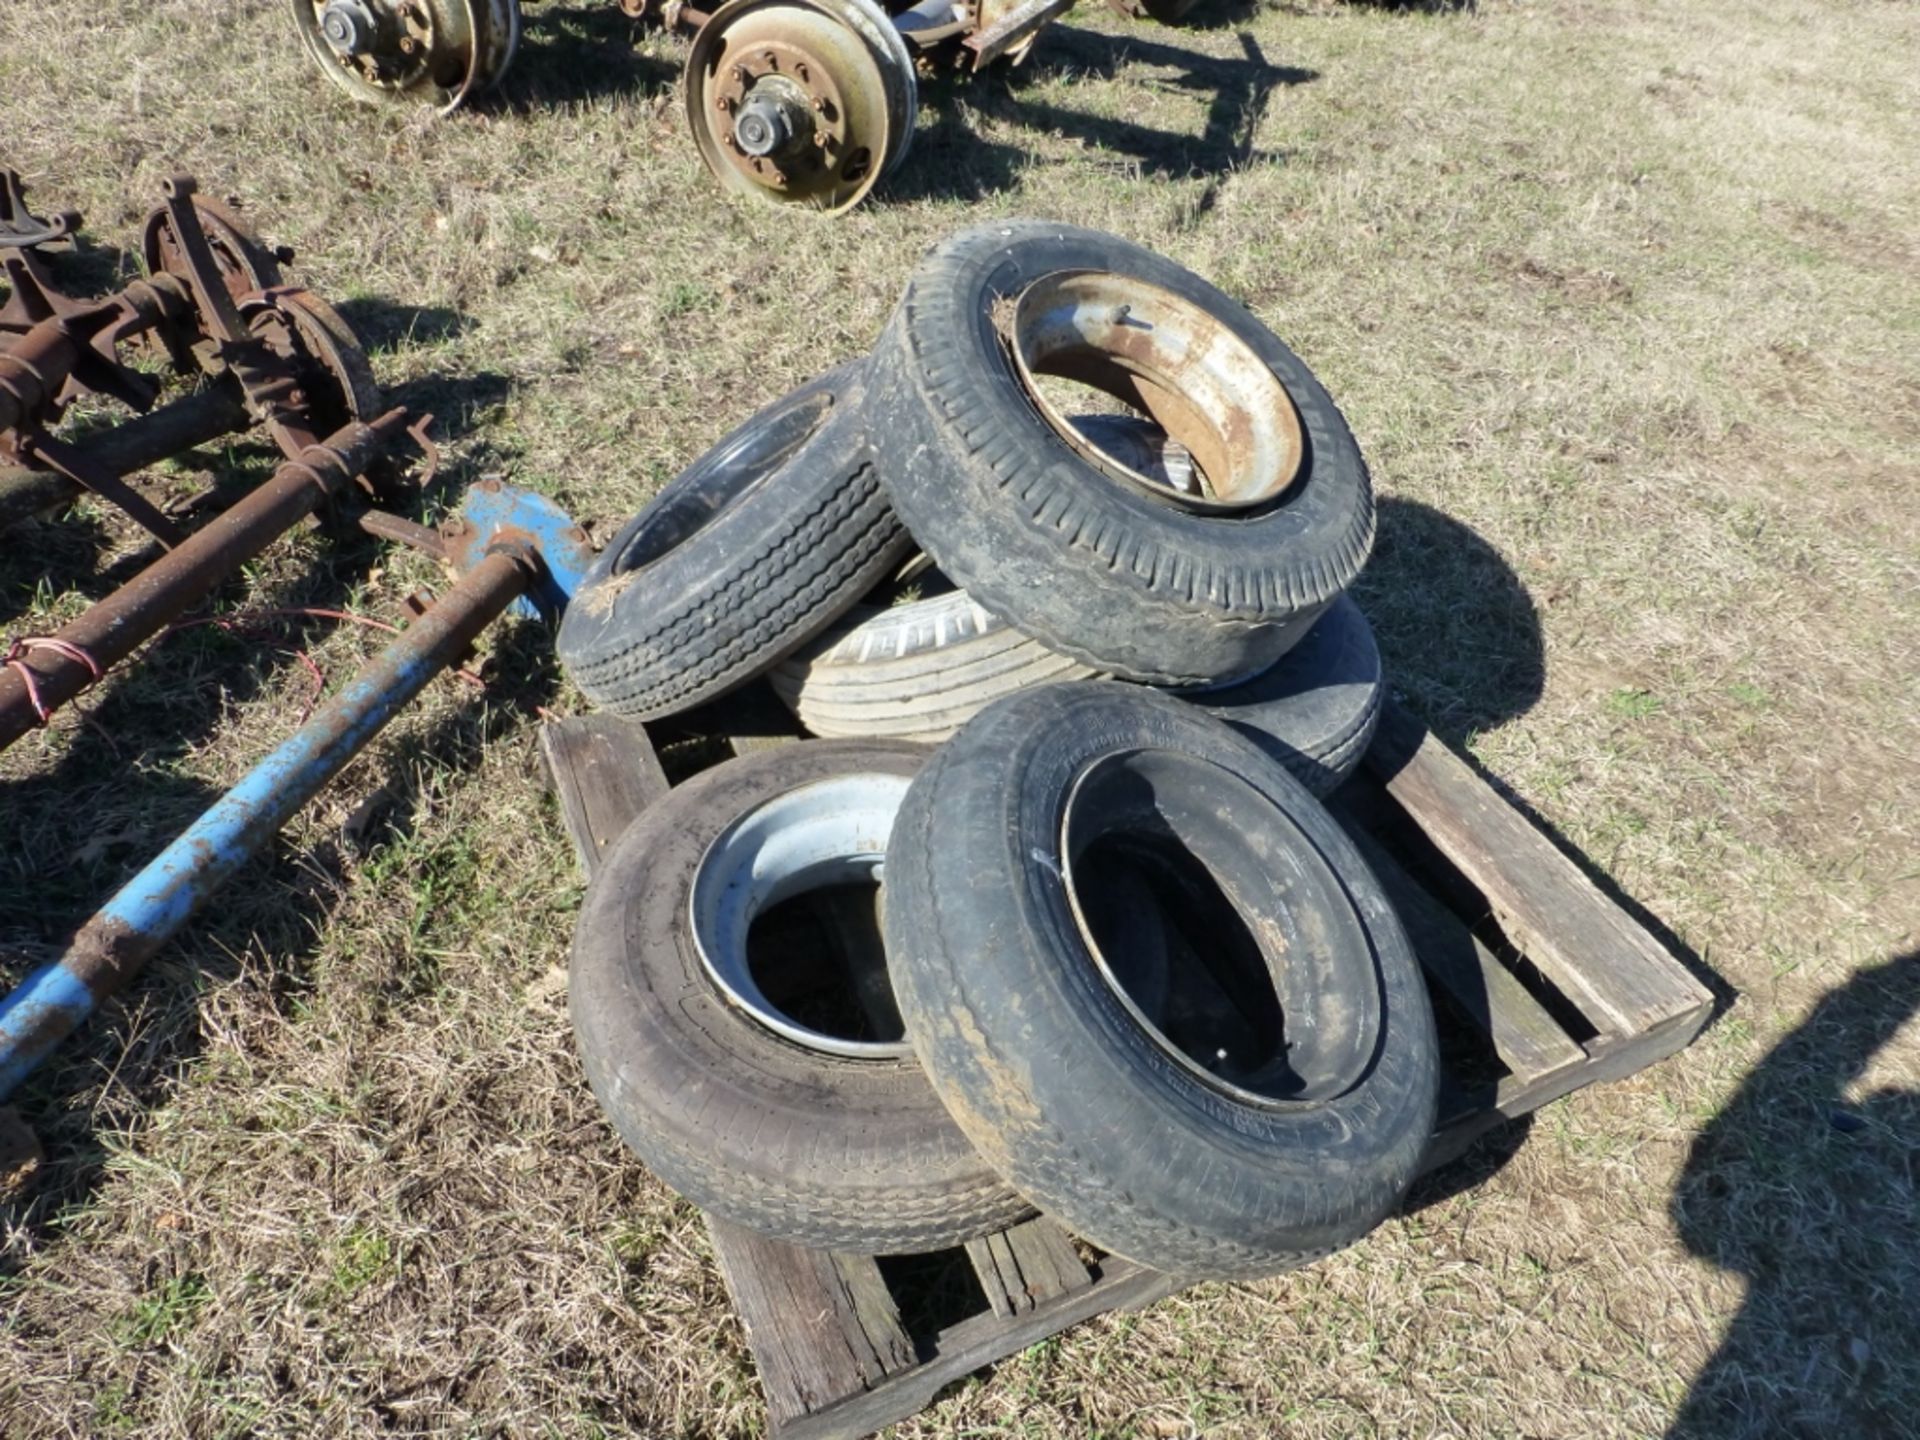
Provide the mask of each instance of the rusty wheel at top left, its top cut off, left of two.
POLYGON ((376 106, 455 109, 513 63, 518 0, 290 0, 328 81, 376 106))

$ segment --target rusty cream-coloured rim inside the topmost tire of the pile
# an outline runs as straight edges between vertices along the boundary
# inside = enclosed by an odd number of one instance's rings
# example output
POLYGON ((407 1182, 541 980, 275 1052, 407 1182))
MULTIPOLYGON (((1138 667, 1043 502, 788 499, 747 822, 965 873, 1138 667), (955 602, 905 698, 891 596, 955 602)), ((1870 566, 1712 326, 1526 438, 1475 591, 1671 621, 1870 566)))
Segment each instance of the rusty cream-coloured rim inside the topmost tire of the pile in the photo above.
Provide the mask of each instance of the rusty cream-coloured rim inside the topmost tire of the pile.
POLYGON ((1286 386, 1252 346, 1204 307, 1112 271, 1056 271, 1029 284, 1000 319, 1035 409, 1112 480, 1190 511, 1271 505, 1300 474, 1306 444, 1286 386), (1089 438, 1041 386, 1056 376, 1146 415, 1190 465, 1167 482, 1089 438))

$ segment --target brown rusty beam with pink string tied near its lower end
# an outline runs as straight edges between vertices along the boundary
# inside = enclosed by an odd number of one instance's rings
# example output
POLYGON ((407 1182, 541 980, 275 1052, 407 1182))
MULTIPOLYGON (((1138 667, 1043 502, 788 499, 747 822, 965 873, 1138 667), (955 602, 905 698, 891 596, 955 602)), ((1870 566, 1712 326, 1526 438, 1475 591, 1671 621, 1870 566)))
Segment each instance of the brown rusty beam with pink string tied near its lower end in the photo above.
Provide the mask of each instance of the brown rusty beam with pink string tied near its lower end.
POLYGON ((324 444, 284 461, 273 480, 0 670, 0 749, 42 724, 42 712, 71 701, 311 515, 323 499, 351 484, 403 430, 405 420, 403 409, 372 424, 355 420, 324 444), (31 684, 23 668, 31 672, 31 684))

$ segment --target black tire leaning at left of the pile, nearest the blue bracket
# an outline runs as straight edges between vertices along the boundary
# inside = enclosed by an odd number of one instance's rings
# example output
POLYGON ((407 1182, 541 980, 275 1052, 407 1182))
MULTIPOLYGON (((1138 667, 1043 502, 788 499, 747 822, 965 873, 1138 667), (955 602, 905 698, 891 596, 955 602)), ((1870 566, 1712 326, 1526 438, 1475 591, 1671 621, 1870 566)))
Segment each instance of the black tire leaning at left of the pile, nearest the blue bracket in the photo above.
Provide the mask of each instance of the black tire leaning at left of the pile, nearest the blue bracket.
POLYGON ((557 649, 595 705, 691 710, 847 612, 908 553, 866 453, 866 365, 726 436, 601 551, 557 649))

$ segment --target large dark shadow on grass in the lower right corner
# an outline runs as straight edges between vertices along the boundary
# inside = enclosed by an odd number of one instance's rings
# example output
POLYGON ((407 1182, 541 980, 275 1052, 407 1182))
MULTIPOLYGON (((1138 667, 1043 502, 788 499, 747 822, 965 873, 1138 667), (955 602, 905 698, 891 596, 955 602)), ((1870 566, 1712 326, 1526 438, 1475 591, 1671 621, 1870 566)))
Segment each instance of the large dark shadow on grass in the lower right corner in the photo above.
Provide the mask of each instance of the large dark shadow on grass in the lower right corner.
POLYGON ((1920 1012, 1920 950, 1851 975, 1693 1140, 1672 1217, 1747 1296, 1668 1440, 1912 1434, 1920 1092, 1845 1091, 1920 1012))

